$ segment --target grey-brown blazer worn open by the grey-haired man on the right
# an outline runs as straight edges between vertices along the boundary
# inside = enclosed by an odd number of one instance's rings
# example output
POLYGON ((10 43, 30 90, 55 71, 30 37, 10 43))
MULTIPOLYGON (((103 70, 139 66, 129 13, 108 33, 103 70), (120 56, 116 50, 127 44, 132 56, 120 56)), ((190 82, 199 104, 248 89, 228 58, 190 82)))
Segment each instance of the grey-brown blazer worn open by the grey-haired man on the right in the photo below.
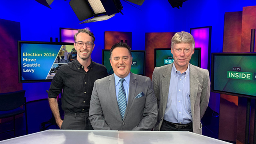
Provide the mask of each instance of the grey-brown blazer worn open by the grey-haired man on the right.
MULTIPOLYGON (((158 118, 154 130, 160 130, 164 120, 171 79, 172 64, 157 67, 152 75, 154 91, 158 102, 158 118)), ((208 70, 190 66, 190 103, 193 132, 202 134, 201 118, 204 116, 210 98, 210 78, 208 70)))

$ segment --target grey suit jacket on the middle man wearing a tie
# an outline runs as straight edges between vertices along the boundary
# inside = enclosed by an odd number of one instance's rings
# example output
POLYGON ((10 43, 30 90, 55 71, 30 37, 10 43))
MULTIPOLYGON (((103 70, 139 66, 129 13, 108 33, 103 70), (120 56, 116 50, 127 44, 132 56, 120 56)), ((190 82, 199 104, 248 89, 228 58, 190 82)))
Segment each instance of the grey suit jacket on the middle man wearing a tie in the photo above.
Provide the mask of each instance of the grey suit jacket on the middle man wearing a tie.
POLYGON ((129 85, 128 104, 122 120, 114 74, 94 82, 89 111, 94 130, 151 130, 154 127, 157 102, 150 78, 131 73, 129 85), (135 98, 140 92, 145 95, 135 98))

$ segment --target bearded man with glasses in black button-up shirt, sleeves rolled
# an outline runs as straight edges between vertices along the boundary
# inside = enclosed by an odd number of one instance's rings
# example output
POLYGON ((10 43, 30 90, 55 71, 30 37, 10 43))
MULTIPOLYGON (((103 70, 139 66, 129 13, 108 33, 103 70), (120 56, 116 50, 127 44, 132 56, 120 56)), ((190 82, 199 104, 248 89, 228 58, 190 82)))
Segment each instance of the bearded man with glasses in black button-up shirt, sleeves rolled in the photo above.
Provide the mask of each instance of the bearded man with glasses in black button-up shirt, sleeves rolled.
POLYGON ((60 129, 93 130, 89 116, 90 99, 94 81, 108 76, 105 66, 93 62, 94 34, 89 28, 78 30, 74 35, 76 60, 60 66, 48 91, 48 101, 60 129), (64 120, 60 117, 57 96, 62 92, 64 120))

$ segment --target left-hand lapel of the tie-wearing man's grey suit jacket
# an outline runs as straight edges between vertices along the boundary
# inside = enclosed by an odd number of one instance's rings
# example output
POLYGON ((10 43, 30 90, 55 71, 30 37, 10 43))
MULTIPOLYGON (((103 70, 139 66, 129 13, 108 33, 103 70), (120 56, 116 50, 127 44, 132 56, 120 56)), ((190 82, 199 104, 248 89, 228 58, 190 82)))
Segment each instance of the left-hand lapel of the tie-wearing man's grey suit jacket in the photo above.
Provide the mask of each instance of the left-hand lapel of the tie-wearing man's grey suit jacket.
POLYGON ((112 76, 110 76, 110 78, 108 80, 109 80, 108 90, 109 90, 110 98, 112 100, 112 104, 110 104, 110 105, 114 106, 114 108, 116 109, 117 114, 119 114, 120 119, 122 121, 122 117, 121 117, 119 107, 118 107, 118 103, 117 103, 117 99, 116 99, 116 85, 115 85, 114 74, 112 74, 112 76))

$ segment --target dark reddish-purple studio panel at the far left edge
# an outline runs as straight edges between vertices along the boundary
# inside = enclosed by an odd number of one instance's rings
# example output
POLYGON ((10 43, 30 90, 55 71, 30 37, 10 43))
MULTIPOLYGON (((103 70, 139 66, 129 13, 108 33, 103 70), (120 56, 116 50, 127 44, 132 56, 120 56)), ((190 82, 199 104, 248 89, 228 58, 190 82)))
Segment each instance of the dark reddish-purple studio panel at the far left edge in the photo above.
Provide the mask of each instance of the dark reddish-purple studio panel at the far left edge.
POLYGON ((18 83, 18 50, 20 22, 0 19, 0 92, 22 90, 18 83))

